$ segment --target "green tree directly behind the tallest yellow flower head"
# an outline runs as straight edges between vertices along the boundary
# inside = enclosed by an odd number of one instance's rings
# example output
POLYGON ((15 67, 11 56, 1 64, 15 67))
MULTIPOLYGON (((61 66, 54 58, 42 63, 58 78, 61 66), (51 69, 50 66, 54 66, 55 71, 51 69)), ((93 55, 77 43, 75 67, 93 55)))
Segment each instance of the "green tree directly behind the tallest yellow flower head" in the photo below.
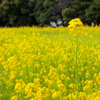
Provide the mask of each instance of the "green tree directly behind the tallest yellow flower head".
POLYGON ((91 5, 92 0, 69 0, 69 7, 62 11, 64 24, 73 18, 80 18, 83 23, 87 22, 85 10, 91 5))

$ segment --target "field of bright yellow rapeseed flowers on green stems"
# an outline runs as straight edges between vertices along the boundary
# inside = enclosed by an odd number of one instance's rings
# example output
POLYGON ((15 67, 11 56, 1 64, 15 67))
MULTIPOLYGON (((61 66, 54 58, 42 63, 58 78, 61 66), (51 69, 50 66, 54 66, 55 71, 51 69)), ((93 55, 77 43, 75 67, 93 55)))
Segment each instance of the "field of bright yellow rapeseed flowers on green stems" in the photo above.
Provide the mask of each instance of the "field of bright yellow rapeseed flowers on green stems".
POLYGON ((0 28, 0 100, 100 100, 100 26, 0 28))

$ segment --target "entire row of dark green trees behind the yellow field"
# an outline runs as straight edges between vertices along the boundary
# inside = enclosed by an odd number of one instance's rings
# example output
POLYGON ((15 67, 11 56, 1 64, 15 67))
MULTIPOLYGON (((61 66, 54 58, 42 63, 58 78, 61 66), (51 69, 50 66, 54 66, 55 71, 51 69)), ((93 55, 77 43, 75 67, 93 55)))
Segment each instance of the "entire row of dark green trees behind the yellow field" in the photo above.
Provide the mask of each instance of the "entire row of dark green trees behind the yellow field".
POLYGON ((100 24, 100 0, 0 0, 0 26, 49 25, 73 18, 100 24))

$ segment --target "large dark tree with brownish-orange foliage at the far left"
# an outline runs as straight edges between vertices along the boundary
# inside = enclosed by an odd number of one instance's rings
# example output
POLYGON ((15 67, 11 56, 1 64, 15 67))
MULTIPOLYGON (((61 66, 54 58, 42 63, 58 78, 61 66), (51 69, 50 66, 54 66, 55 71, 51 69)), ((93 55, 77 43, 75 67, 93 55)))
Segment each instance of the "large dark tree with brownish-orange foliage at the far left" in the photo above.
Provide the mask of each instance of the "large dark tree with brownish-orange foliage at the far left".
MULTIPOLYGON (((0 11, 7 25, 25 26, 32 24, 33 8, 30 0, 3 0, 0 11)), ((35 21, 34 21, 35 22, 35 21)))

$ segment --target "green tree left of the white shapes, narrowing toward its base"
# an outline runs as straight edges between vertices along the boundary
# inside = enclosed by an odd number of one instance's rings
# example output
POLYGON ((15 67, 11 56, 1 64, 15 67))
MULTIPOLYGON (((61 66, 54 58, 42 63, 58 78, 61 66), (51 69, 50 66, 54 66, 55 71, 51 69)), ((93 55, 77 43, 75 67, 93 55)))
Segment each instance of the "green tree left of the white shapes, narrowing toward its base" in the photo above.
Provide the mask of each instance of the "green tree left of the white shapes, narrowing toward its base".
POLYGON ((37 0, 34 15, 37 22, 42 26, 49 24, 52 20, 52 8, 58 3, 58 0, 37 0))

